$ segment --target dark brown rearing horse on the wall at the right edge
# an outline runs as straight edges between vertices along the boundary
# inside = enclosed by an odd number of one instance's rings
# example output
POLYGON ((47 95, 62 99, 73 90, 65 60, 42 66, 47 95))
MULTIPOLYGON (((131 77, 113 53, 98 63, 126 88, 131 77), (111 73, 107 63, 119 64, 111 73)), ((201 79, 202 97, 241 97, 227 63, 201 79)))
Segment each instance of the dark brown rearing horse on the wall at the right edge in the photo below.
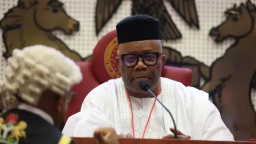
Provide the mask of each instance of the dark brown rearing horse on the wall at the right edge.
POLYGON ((226 21, 210 30, 220 43, 231 37, 235 43, 212 63, 210 78, 202 86, 213 98, 221 116, 236 139, 256 137, 256 101, 251 89, 256 88, 256 8, 251 1, 226 12, 226 21))

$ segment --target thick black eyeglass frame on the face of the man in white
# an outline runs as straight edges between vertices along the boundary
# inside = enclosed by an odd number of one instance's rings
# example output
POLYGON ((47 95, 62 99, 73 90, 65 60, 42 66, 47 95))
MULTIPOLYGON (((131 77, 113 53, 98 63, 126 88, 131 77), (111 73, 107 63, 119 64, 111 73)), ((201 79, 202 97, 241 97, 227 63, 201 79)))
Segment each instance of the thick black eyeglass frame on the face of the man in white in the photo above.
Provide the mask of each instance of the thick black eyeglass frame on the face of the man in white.
POLYGON ((141 58, 141 60, 142 60, 142 62, 143 62, 143 64, 144 64, 145 66, 147 66, 147 67, 152 67, 152 66, 155 66, 156 63, 158 62, 159 54, 161 54, 161 52, 149 52, 149 53, 143 53, 143 54, 128 54, 128 53, 127 53, 127 54, 121 54, 121 55, 119 55, 119 57, 122 59, 124 66, 125 66, 125 67, 128 67, 128 68, 134 68, 135 66, 137 66, 137 65, 138 65, 138 62, 139 62, 139 58, 141 58), (142 55, 146 55, 146 54, 156 54, 156 62, 155 62, 154 65, 146 65, 145 61, 144 61, 143 58, 142 58, 142 55), (135 55, 135 56, 137 56, 137 62, 135 63, 134 66, 129 67, 129 66, 126 66, 126 65, 125 65, 125 63, 124 63, 124 57, 125 57, 125 55, 135 55))

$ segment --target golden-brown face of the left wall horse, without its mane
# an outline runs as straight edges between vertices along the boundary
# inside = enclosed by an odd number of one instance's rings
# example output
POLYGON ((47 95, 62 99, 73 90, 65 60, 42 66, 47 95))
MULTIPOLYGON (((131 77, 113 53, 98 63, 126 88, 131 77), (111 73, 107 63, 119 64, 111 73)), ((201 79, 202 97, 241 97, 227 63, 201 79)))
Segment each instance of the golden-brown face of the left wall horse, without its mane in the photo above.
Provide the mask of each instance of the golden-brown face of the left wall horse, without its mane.
POLYGON ((65 34, 72 34, 79 30, 79 22, 66 13, 58 0, 37 1, 34 19, 46 31, 59 29, 65 34))

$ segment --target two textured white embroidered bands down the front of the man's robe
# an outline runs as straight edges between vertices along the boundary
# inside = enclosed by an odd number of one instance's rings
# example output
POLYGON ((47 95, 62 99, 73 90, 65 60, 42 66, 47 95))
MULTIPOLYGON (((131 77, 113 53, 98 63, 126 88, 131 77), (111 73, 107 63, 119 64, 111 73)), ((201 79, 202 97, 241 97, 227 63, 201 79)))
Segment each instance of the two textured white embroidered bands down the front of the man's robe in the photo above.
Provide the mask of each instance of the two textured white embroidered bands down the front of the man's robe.
MULTIPOLYGON (((177 91, 175 87, 175 83, 171 79, 162 78, 161 77, 161 98, 165 106, 171 111, 174 121, 177 122, 177 91)), ((121 131, 123 134, 127 134, 131 132, 131 109, 129 105, 129 100, 126 96, 125 86, 122 81, 122 78, 117 78, 116 82, 116 94, 117 94, 117 102, 118 109, 120 114, 121 121, 121 131)), ((167 134, 172 134, 169 127, 173 127, 172 119, 170 118, 169 113, 165 109, 163 109, 163 117, 164 117, 164 126, 165 132, 167 134)))

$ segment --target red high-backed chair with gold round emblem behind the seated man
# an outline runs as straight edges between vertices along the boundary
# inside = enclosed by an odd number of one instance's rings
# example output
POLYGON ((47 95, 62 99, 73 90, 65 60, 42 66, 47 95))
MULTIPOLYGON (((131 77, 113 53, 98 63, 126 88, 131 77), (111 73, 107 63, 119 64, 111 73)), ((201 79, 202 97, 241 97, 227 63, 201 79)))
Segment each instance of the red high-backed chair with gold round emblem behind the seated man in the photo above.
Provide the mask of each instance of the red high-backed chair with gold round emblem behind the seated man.
MULTIPOLYGON (((83 74, 83 81, 73 87, 76 96, 71 101, 66 121, 69 116, 80 111, 86 95, 98 85, 107 82, 109 79, 121 77, 115 57, 118 55, 116 30, 110 31, 103 36, 95 46, 91 62, 76 62, 83 74)), ((181 82, 185 86, 191 84, 192 71, 188 68, 163 66, 162 77, 181 82)))

